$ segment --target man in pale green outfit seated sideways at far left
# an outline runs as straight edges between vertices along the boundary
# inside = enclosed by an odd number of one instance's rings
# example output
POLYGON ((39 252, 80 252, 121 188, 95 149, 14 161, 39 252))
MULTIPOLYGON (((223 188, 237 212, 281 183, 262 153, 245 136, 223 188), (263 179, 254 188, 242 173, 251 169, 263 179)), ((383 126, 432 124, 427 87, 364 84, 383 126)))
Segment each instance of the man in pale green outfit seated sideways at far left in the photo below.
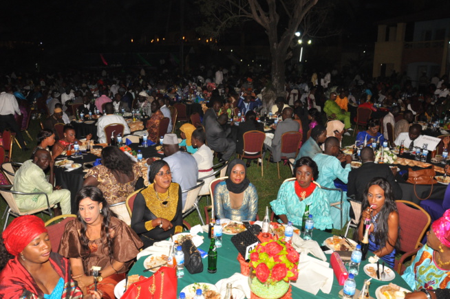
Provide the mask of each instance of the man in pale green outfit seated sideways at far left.
MULTIPOLYGON (((37 149, 32 156, 32 160, 23 162, 22 166, 17 170, 16 175, 14 175, 12 190, 28 193, 45 192, 50 205, 59 203, 63 214, 71 214, 70 191, 61 189, 61 186, 53 187, 53 166, 54 160, 50 156, 50 152, 42 148, 37 149), (50 179, 47 181, 43 170, 49 166, 50 179)), ((14 195, 14 199, 21 210, 36 210, 47 206, 45 195, 14 195)), ((55 215, 57 214, 56 211, 55 215)))

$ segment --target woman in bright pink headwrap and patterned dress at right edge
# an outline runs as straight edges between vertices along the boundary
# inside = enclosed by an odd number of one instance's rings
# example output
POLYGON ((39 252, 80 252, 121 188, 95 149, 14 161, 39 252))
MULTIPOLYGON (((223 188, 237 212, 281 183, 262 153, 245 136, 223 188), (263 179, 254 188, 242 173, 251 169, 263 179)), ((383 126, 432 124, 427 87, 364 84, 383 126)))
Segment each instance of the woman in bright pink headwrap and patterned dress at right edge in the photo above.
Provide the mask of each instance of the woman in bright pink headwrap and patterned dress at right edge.
POLYGON ((427 244, 420 248, 402 278, 414 291, 450 288, 450 210, 433 222, 427 244))

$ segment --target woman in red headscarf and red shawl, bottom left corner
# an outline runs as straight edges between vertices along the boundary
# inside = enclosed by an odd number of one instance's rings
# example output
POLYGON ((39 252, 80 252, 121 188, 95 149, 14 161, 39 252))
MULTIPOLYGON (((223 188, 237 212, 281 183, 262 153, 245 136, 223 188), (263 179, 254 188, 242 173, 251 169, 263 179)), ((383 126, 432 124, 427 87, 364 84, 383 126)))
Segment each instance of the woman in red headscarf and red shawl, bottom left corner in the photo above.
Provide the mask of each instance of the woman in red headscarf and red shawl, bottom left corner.
MULTIPOLYGON (((9 259, 0 273, 0 298, 83 298, 71 277, 69 261, 56 252, 42 219, 27 215, 17 217, 3 231, 0 256, 9 259)), ((85 297, 87 298, 87 297, 85 297)), ((92 292, 89 298, 100 298, 92 292)))

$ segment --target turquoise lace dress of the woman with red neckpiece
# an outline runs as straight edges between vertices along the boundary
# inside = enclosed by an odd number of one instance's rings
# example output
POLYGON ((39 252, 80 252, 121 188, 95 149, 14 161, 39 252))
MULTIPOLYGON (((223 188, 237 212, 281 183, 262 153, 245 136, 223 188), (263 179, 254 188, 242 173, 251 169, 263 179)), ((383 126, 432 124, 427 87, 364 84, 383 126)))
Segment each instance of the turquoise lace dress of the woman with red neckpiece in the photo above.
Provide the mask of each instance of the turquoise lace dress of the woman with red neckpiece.
POLYGON ((301 226, 303 214, 307 205, 310 205, 310 214, 314 217, 314 228, 326 230, 333 227, 330 216, 330 204, 327 194, 321 188, 315 188, 314 192, 303 201, 295 194, 295 181, 286 181, 278 191, 277 199, 270 202, 273 212, 277 215, 286 215, 292 224, 301 226))

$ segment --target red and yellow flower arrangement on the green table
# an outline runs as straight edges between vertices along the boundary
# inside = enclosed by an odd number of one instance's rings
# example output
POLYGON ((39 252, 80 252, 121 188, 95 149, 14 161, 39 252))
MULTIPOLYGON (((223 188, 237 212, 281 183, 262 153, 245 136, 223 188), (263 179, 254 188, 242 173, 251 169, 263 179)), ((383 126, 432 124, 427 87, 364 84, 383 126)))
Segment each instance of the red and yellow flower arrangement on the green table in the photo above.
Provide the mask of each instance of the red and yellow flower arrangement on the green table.
POLYGON ((261 283, 277 283, 280 280, 297 280, 299 253, 290 243, 269 241, 260 243, 250 252, 250 267, 261 283))

